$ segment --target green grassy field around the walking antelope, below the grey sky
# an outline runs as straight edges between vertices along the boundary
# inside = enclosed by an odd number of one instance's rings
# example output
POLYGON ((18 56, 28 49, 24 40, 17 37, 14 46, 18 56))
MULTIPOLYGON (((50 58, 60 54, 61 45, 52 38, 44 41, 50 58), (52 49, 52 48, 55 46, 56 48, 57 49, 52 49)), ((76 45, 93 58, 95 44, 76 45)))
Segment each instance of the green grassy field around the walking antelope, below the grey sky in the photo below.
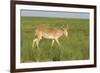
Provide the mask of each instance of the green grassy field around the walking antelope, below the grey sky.
POLYGON ((89 59, 89 20, 47 17, 21 17, 21 62, 68 61, 89 59), (61 47, 51 40, 42 39, 40 48, 32 48, 32 40, 37 26, 54 28, 66 27, 68 37, 62 36, 61 47))

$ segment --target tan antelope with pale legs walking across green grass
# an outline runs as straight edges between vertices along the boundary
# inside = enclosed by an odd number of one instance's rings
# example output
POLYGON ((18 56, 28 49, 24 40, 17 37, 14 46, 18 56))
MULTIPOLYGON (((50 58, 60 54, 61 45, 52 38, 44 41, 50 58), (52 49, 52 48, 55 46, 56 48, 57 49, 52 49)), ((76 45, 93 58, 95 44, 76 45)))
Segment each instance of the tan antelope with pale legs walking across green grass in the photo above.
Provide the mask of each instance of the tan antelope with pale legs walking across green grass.
POLYGON ((51 46, 53 46, 54 42, 60 46, 59 38, 63 35, 68 36, 67 28, 38 27, 35 30, 36 38, 33 39, 32 47, 36 44, 37 48, 39 48, 39 42, 42 38, 51 39, 51 46))

